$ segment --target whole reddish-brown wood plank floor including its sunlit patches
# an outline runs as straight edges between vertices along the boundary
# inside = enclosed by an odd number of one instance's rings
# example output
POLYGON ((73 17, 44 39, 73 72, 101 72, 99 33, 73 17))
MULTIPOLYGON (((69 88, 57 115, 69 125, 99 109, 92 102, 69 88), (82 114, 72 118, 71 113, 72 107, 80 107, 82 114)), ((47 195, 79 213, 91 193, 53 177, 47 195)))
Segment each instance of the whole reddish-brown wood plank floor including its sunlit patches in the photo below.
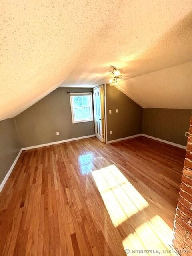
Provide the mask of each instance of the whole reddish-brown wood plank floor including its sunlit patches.
POLYGON ((22 152, 0 194, 0 255, 119 256, 169 248, 184 155, 145 137, 22 152))

